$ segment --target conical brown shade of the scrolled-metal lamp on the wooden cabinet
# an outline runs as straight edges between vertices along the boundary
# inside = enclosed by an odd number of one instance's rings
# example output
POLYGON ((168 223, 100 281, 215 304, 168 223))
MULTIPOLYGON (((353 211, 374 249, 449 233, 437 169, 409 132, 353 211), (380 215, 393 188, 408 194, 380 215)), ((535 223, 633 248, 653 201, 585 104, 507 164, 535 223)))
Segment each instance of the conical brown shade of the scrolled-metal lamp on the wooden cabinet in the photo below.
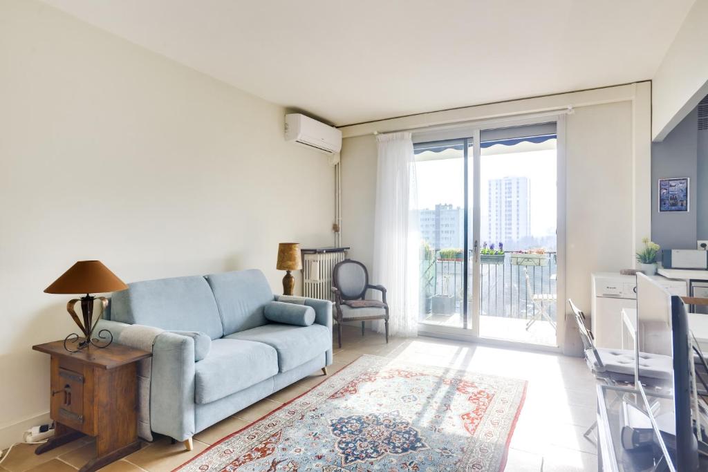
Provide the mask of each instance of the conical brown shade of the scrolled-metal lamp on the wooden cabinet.
POLYGON ((100 260, 79 260, 45 289, 47 294, 120 292, 128 286, 100 260))

